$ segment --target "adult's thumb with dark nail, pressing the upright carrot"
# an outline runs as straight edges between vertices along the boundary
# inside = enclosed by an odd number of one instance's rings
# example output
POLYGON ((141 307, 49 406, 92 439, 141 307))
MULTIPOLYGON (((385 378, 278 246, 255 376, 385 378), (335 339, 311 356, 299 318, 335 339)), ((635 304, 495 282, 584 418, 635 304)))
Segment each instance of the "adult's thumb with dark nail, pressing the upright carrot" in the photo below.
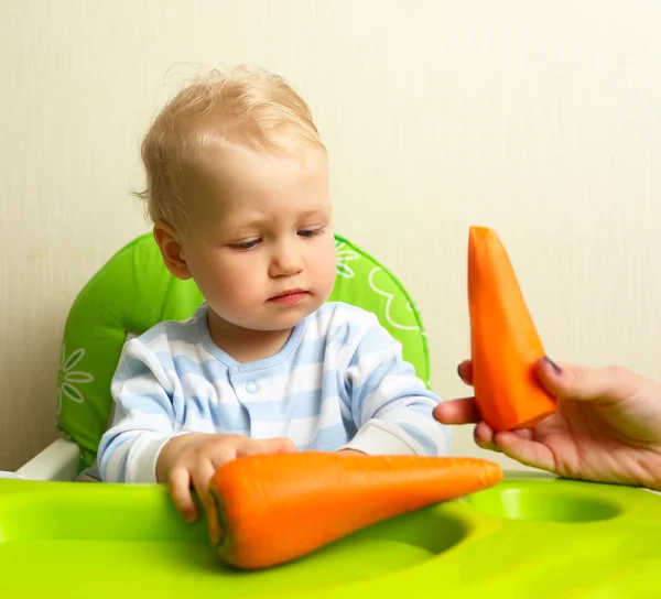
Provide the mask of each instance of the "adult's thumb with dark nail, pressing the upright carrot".
POLYGON ((631 395, 636 374, 626 368, 587 368, 555 363, 541 358, 537 363, 540 382, 549 393, 563 400, 619 401, 631 395))

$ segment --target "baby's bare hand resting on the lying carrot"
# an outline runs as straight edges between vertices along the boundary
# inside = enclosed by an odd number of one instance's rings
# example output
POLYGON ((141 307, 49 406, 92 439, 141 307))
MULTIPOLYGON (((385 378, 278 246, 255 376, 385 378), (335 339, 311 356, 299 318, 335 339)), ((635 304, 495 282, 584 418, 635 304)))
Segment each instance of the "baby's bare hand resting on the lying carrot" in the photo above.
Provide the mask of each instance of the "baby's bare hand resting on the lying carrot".
POLYGON ((288 438, 251 439, 240 435, 191 433, 170 439, 156 462, 156 479, 167 481, 170 494, 186 522, 197 520, 191 483, 203 505, 216 470, 227 461, 254 454, 289 454, 296 450, 288 438))

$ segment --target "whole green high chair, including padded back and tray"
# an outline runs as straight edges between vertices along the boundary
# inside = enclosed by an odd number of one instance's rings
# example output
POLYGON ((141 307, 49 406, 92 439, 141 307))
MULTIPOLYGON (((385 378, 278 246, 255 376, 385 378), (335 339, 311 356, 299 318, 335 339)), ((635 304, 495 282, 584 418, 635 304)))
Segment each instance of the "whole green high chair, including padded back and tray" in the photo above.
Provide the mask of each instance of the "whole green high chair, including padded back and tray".
MULTIPOLYGON (((339 236, 336 253, 330 300, 373 312, 431 385, 423 323, 404 286, 339 236)), ((661 498, 638 489, 509 472, 491 489, 241 573, 219 564, 204 518, 185 524, 164 486, 72 482, 94 470, 127 337, 187 318, 202 302, 192 281, 166 271, 151 235, 80 292, 57 380, 62 438, 18 470, 25 480, 0 478, 0 597, 661 597, 661 498)))

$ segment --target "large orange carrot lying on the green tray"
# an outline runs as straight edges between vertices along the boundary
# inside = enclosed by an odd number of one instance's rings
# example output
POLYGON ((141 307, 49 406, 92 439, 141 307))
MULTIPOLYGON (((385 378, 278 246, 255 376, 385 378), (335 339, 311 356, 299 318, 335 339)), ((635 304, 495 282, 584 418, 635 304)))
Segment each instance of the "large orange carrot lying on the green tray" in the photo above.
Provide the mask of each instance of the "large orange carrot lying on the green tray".
POLYGON ((476 458, 324 451, 247 456, 216 471, 207 523, 224 563, 267 568, 501 478, 497 464, 476 458))

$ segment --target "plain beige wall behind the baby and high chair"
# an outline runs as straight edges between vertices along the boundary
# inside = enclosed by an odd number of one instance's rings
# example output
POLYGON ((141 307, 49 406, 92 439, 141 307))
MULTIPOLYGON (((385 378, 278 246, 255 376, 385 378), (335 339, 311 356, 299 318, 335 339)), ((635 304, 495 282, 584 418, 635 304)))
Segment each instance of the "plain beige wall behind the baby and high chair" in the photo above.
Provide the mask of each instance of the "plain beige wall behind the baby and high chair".
MULTIPOLYGON (((551 356, 661 379, 660 22, 653 0, 0 0, 0 469, 55 438, 67 311, 148 229, 138 143, 183 63, 302 90, 337 230, 412 291, 443 397, 469 392, 473 224, 551 356)), ((486 455, 470 431, 455 453, 486 455)))

